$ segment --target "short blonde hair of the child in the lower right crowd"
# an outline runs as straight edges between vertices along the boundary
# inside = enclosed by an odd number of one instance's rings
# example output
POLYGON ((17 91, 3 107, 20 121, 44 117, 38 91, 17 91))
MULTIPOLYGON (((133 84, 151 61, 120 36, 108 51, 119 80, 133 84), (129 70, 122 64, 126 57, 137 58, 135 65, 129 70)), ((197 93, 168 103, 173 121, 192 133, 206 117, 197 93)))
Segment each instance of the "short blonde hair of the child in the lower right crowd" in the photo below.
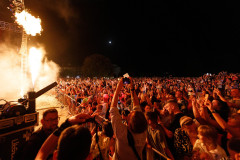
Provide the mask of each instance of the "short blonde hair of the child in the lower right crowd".
POLYGON ((215 128, 209 125, 200 125, 198 127, 198 133, 202 136, 212 140, 214 143, 217 143, 218 134, 215 128))

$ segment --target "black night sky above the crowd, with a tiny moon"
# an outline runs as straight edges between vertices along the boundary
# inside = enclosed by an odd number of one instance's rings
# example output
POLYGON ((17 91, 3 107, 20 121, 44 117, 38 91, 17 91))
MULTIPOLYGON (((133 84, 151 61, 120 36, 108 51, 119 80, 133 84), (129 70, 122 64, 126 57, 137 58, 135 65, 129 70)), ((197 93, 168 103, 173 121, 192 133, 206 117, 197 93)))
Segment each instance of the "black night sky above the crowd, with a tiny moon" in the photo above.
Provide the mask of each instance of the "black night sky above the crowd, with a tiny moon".
POLYGON ((25 5, 42 20, 42 35, 32 43, 43 43, 61 66, 81 66, 86 56, 99 53, 134 76, 239 72, 240 11, 231 1, 25 0, 25 5))

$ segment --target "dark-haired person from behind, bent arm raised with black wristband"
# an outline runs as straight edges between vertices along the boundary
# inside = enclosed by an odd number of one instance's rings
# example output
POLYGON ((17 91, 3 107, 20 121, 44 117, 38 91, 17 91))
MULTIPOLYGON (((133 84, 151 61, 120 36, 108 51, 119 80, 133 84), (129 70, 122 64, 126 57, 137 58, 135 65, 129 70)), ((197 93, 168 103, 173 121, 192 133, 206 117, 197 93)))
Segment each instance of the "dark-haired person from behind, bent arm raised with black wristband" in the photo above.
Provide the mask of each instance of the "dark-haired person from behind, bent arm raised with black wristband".
POLYGON ((88 128, 77 125, 89 118, 92 117, 84 113, 68 118, 47 138, 35 160, 45 160, 52 152, 54 152, 53 160, 91 159, 89 154, 92 142, 91 133, 88 128))

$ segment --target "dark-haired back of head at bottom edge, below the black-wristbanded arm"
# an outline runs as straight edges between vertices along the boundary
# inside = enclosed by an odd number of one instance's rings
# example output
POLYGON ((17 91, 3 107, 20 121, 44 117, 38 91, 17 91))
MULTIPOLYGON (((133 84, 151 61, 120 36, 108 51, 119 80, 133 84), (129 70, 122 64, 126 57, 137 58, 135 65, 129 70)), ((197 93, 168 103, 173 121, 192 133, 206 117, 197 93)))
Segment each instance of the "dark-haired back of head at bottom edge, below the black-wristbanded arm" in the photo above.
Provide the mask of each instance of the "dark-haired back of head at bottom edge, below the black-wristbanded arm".
POLYGON ((65 129, 58 140, 58 160, 85 160, 90 152, 92 136, 88 128, 74 125, 65 129))

